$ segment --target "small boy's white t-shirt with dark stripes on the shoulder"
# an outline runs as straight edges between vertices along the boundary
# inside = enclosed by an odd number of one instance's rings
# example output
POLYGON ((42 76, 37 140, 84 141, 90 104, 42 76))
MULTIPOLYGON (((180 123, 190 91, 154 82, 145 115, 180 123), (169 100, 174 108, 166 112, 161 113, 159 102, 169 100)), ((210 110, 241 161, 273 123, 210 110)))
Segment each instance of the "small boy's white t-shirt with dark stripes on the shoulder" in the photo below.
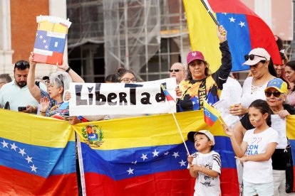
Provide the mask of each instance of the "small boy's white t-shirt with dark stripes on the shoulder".
MULTIPOLYGON (((210 170, 217 171, 221 173, 221 159, 219 153, 211 151, 207 154, 193 153, 194 159, 192 160, 193 165, 200 165, 210 170)), ((197 177, 195 183, 195 196, 197 195, 219 195, 220 190, 220 180, 219 175, 217 178, 210 177, 204 173, 200 173, 197 177)))

